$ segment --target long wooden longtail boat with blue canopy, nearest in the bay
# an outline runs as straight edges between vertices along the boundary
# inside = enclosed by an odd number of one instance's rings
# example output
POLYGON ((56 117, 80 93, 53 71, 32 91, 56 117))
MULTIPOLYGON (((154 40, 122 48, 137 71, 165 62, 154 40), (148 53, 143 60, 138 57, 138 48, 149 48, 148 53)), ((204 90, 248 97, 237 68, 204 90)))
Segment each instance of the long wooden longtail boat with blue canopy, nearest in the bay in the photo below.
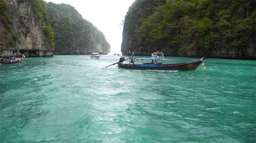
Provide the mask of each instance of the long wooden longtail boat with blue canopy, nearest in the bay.
MULTIPOLYGON (((125 69, 140 69, 140 70, 180 70, 180 71, 192 71, 196 70, 196 68, 202 63, 203 68, 203 59, 197 61, 190 61, 184 63, 176 63, 176 64, 163 64, 161 58, 137 58, 137 64, 129 65, 122 63, 125 61, 124 57, 119 59, 118 68, 125 69), (151 62, 150 62, 151 61, 151 62)), ((126 59, 127 60, 127 59, 126 59)))

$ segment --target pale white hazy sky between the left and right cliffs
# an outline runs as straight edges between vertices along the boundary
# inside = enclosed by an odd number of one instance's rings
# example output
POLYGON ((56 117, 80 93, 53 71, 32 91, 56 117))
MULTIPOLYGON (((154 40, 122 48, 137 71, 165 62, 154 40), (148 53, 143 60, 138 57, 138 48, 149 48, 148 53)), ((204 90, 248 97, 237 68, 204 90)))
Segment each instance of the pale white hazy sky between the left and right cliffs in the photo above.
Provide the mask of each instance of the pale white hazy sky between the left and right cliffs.
POLYGON ((67 3, 102 31, 111 45, 111 53, 121 52, 123 25, 128 8, 135 0, 45 0, 67 3))

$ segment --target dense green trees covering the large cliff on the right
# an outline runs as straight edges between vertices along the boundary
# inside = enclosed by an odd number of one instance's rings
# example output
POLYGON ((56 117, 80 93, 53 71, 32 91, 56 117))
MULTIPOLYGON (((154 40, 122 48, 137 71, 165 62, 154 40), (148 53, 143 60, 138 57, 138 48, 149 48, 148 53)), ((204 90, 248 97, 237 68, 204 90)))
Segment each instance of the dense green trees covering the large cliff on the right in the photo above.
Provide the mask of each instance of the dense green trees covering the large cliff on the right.
POLYGON ((123 43, 122 51, 255 59, 254 0, 167 0, 154 8, 146 3, 136 0, 127 12, 124 28, 137 38, 132 46, 123 43), (139 26, 130 27, 134 22, 139 26))

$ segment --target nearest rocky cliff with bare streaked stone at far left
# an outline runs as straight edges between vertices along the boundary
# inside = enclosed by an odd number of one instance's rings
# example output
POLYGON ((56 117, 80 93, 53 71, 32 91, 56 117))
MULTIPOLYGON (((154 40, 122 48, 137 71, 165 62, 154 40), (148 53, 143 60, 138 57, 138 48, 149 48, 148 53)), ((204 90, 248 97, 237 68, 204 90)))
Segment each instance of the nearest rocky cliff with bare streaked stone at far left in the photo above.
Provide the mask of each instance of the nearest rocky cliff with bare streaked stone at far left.
POLYGON ((42 29, 48 27, 44 8, 42 0, 0 0, 1 56, 53 56, 53 41, 42 29))

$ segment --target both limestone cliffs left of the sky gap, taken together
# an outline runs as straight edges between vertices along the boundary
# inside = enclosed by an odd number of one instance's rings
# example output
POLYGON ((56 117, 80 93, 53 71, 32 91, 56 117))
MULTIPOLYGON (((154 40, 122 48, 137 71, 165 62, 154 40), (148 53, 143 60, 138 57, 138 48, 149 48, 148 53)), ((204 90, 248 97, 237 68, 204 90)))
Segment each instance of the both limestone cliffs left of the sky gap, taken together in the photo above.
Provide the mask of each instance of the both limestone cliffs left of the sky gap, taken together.
POLYGON ((110 44, 74 7, 55 3, 46 7, 43 0, 0 0, 0 56, 91 52, 108 54, 110 44))

